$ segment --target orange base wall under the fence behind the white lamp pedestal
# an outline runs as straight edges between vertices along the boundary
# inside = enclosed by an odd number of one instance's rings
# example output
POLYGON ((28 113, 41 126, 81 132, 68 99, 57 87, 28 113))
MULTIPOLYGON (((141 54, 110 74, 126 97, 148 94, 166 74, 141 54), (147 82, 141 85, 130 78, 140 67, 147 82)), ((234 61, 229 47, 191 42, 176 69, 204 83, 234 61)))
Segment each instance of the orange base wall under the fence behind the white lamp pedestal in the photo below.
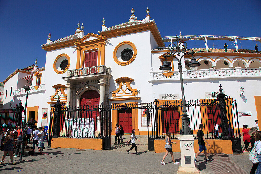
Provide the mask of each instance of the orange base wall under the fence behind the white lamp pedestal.
MULTIPOLYGON (((177 144, 172 144, 173 152, 180 152, 180 140, 171 140, 171 142, 177 142, 177 144)), ((232 151, 232 142, 231 140, 207 140, 210 144, 210 147, 207 147, 207 153, 226 153, 233 154, 232 151)), ((155 153, 166 152, 165 140, 154 140, 155 153)), ((195 153, 199 150, 198 140, 194 140, 194 149, 195 153)), ((204 153, 204 151, 203 151, 204 153)))

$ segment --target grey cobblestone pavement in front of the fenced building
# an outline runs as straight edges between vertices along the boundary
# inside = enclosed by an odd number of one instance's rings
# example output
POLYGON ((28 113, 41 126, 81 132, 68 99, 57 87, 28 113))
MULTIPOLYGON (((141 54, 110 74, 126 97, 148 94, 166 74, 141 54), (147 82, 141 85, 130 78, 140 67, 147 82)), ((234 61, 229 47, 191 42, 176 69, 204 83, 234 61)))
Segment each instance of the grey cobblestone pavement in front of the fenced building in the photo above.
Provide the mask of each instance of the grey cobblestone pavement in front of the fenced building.
MULTIPOLYGON (((143 141, 140 143, 142 144, 143 141)), ((126 144, 120 148, 102 151, 46 148, 45 155, 25 156, 23 161, 17 161, 15 165, 9 164, 10 158, 7 156, 4 159, 7 164, 0 165, 0 173, 16 173, 16 170, 23 170, 19 173, 177 173, 180 164, 174 165, 170 155, 164 160, 166 165, 161 165, 164 153, 148 152, 141 147, 145 145, 137 146, 140 155, 135 155, 135 149, 131 154, 127 154, 125 150, 131 146, 126 144)), ((1 151, 0 155, 2 154, 1 151)), ((208 155, 213 159, 212 162, 206 163, 204 154, 200 154, 197 158, 199 163, 196 164, 201 174, 250 173, 252 163, 248 160, 248 153, 208 155), (229 169, 227 166, 233 169, 227 170, 229 169)), ((180 153, 174 153, 174 157, 175 160, 180 161, 180 153)))

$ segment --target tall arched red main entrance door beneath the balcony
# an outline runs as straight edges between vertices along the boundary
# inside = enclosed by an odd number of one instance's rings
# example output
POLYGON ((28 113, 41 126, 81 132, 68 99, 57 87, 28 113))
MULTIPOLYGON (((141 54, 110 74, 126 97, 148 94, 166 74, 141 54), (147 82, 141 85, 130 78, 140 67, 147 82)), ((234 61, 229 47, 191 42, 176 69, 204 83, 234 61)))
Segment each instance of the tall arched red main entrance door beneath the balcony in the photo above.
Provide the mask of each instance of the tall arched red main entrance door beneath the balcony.
POLYGON ((87 90, 81 96, 80 118, 94 118, 94 127, 97 129, 97 117, 99 116, 100 94, 94 90, 87 90))

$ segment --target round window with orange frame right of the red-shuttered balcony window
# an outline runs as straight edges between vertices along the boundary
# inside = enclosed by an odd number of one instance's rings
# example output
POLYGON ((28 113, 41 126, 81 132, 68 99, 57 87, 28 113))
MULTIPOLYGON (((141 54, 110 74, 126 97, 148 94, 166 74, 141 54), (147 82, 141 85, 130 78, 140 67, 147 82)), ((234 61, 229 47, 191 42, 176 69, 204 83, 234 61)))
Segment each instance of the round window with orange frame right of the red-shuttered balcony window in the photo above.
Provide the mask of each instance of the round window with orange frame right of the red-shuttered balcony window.
POLYGON ((113 51, 113 59, 118 65, 129 65, 134 61, 137 49, 132 42, 124 41, 119 43, 113 51))

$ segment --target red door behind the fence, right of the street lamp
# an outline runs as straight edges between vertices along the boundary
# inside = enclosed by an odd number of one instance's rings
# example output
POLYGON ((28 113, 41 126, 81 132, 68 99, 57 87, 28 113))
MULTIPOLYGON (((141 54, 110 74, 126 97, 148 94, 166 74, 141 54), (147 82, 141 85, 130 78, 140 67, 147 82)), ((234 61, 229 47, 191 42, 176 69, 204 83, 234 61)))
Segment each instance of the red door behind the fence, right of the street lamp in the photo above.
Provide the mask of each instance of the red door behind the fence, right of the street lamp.
POLYGON ((214 133, 214 121, 216 121, 218 125, 221 123, 220 110, 218 106, 207 107, 207 121, 209 124, 209 133, 214 133))

